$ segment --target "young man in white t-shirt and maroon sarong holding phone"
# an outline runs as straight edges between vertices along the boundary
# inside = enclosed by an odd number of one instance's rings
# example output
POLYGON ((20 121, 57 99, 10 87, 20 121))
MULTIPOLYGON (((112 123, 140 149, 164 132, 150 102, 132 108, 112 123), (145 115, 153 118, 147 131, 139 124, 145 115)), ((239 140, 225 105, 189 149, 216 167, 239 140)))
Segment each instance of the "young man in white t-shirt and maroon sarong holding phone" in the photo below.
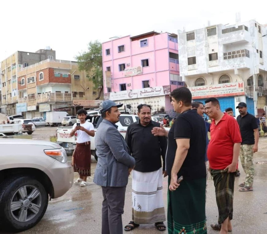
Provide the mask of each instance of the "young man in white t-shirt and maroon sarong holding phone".
POLYGON ((86 122, 87 111, 79 109, 77 111, 80 120, 80 126, 75 123, 72 126, 70 136, 73 137, 77 133, 76 147, 72 155, 72 166, 74 172, 79 173, 79 178, 74 184, 80 183, 81 187, 86 186, 87 176, 91 176, 91 137, 95 136, 94 125, 86 122))

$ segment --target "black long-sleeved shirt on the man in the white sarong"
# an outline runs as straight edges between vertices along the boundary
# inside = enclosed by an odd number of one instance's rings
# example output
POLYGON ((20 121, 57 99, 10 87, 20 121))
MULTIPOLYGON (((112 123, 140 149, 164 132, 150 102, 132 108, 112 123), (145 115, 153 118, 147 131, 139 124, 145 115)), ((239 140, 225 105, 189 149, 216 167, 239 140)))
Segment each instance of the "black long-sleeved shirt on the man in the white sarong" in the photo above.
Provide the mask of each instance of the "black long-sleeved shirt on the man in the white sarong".
POLYGON ((150 121, 147 126, 142 126, 139 120, 127 128, 125 141, 135 159, 134 170, 138 172, 154 172, 160 169, 161 155, 165 168, 167 139, 155 137, 151 133, 153 127, 160 127, 160 123, 150 121))

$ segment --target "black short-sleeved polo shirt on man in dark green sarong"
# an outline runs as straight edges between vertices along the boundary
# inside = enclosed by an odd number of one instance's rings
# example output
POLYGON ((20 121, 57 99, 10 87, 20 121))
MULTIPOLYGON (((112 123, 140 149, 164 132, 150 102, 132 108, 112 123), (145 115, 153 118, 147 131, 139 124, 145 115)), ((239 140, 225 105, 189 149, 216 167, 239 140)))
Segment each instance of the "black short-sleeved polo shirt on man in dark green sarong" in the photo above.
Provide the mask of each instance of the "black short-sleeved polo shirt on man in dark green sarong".
POLYGON ((178 172, 178 178, 181 175, 186 180, 205 178, 206 126, 196 109, 180 114, 168 133, 166 170, 169 176, 171 176, 177 149, 176 139, 178 138, 190 139, 190 147, 178 172))

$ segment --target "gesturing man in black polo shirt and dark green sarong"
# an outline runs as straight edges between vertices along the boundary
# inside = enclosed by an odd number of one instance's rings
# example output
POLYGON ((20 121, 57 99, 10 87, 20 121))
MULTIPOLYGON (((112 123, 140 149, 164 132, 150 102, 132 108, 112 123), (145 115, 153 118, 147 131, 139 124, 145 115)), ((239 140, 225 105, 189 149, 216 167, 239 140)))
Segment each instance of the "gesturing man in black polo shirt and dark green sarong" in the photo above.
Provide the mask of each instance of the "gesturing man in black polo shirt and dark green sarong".
POLYGON ((203 118, 192 109, 192 94, 181 87, 171 92, 172 105, 180 115, 171 129, 154 127, 154 135, 168 135, 168 233, 207 233, 205 221, 206 129, 203 118), (177 183, 183 176, 184 180, 177 183))

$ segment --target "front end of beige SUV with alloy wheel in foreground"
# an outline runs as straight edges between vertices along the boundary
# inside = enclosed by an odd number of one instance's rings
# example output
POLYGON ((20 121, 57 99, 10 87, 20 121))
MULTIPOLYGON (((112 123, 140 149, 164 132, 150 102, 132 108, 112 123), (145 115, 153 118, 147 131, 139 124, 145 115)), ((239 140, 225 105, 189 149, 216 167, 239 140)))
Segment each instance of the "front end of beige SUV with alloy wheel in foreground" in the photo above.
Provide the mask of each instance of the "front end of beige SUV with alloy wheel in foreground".
POLYGON ((32 228, 44 216, 48 195, 58 198, 72 187, 72 166, 65 150, 53 142, 1 139, 0 148, 1 228, 32 228))

